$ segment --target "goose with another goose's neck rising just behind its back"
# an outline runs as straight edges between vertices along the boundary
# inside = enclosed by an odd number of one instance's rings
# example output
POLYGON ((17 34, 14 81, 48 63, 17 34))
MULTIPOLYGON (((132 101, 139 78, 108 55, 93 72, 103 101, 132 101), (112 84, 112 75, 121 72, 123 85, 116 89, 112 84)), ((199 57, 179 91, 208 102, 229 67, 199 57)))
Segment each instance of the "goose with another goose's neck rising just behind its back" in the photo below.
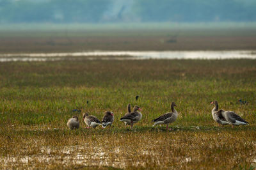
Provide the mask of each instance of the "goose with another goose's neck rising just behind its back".
POLYGON ((134 106, 133 112, 127 112, 120 121, 124 121, 125 125, 131 125, 132 128, 133 124, 137 123, 142 118, 142 114, 138 112, 138 110, 141 111, 140 107, 138 107, 138 105, 134 106))

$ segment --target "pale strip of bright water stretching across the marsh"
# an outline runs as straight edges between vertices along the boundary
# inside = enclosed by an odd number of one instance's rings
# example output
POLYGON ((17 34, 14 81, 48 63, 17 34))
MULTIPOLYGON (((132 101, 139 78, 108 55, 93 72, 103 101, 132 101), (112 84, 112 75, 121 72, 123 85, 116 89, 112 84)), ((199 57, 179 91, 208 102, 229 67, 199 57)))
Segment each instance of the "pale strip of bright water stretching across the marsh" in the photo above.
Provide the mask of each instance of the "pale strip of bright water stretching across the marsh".
POLYGON ((60 61, 79 59, 256 59, 255 50, 224 51, 93 51, 0 54, 0 61, 60 61))

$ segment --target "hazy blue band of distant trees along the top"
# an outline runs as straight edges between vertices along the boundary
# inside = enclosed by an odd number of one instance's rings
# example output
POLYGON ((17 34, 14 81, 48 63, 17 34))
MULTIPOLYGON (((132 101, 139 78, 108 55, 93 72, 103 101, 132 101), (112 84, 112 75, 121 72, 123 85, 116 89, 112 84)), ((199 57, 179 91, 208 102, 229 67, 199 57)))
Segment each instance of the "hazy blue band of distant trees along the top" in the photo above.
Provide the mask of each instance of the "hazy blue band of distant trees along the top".
POLYGON ((0 24, 255 20, 255 0, 0 0, 0 24))

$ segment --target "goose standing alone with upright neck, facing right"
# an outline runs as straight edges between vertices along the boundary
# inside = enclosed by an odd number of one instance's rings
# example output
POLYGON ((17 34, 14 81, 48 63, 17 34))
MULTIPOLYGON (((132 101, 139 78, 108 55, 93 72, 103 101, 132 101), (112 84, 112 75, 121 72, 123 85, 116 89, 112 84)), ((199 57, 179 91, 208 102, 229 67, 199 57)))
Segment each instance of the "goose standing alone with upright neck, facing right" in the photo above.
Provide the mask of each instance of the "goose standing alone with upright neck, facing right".
POLYGON ((163 114, 162 116, 159 116, 158 118, 153 120, 155 122, 153 127, 158 124, 166 124, 166 130, 172 130, 169 129, 169 123, 173 123, 173 121, 175 121, 178 117, 178 112, 174 109, 174 106, 176 106, 176 104, 175 102, 172 102, 172 112, 167 112, 166 114, 163 114))

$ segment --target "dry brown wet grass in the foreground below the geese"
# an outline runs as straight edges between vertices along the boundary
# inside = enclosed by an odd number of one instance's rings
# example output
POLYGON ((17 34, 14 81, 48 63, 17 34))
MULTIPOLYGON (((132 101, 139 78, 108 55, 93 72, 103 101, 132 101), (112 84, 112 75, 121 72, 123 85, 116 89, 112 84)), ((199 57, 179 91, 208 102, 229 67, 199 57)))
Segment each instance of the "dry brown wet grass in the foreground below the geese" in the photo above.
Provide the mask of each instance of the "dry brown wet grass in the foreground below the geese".
POLYGON ((12 132, 9 136, 1 139, 1 159, 5 160, 2 167, 248 169, 254 166, 256 157, 251 128, 173 132, 46 130, 12 132))

